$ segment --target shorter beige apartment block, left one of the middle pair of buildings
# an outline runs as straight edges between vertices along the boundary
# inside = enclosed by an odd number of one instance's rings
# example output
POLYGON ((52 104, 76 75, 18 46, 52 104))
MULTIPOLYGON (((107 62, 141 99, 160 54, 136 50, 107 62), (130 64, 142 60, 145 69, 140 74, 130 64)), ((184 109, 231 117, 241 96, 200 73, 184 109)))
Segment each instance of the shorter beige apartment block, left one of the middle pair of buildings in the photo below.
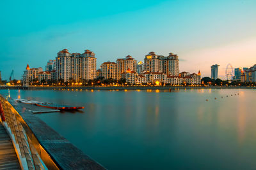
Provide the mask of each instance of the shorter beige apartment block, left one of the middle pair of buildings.
POLYGON ((113 80, 117 80, 116 74, 116 63, 115 62, 104 62, 100 66, 101 74, 104 79, 112 78, 113 80))

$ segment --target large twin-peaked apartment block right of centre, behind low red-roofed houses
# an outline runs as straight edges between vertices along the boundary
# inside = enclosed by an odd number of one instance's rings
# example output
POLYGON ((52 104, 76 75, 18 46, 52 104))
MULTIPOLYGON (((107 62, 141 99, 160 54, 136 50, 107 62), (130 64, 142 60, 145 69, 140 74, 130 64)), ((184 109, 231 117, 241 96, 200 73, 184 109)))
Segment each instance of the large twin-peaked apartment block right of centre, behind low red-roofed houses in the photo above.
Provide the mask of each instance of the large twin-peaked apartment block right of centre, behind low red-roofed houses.
POLYGON ((169 53, 167 57, 156 55, 154 52, 145 55, 145 71, 161 72, 167 75, 179 75, 179 57, 176 54, 169 53))

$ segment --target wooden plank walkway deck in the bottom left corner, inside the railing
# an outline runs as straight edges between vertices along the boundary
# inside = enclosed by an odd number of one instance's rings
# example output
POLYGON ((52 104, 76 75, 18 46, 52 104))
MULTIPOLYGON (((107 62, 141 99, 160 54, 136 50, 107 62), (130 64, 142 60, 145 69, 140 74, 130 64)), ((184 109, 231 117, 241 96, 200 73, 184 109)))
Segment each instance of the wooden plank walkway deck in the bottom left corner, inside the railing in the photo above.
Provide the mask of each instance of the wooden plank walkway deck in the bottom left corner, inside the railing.
POLYGON ((20 169, 12 139, 8 136, 2 124, 0 124, 0 170, 1 169, 20 169))

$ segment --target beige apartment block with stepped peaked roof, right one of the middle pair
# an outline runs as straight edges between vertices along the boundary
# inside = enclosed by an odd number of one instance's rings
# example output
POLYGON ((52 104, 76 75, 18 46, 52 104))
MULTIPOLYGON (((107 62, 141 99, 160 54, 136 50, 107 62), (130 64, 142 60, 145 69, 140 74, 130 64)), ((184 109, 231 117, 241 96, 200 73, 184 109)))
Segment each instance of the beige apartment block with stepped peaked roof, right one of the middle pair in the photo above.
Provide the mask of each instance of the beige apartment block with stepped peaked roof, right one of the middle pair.
POLYGON ((122 78, 121 74, 130 69, 131 71, 137 71, 137 61, 127 55, 124 59, 116 60, 116 69, 117 69, 117 80, 122 78))

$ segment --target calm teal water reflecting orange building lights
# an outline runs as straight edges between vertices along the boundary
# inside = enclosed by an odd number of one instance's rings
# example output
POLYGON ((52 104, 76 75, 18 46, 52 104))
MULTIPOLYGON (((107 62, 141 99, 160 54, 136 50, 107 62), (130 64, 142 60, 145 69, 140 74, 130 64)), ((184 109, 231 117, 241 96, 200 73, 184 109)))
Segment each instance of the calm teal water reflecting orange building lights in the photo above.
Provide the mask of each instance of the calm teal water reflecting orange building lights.
POLYGON ((256 90, 10 93, 85 106, 36 116, 108 169, 256 168, 256 90))

